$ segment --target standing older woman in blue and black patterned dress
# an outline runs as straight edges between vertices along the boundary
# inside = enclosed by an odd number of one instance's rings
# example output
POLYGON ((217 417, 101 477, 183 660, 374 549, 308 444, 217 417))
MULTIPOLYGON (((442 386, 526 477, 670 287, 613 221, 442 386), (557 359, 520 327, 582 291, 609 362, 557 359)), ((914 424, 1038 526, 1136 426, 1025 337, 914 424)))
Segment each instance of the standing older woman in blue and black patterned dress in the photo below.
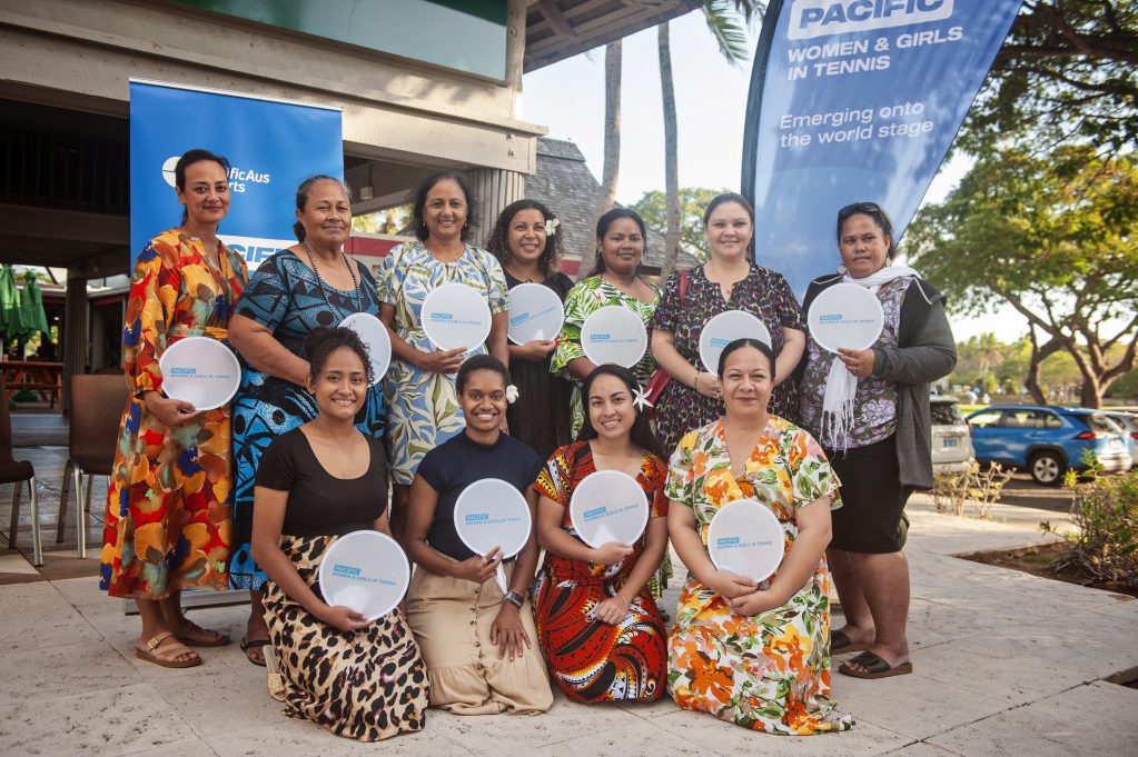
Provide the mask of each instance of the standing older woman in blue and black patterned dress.
MULTIPOLYGON (((230 582, 248 589, 251 613, 241 648, 264 665, 269 643, 261 605, 265 574, 253 560, 253 488, 261 456, 277 436, 316 417, 305 389, 304 340, 318 326, 335 326, 354 313, 379 315, 376 281, 344 253, 352 231, 347 189, 331 176, 313 176, 296 191, 292 226, 298 244, 281 250, 254 274, 230 322, 230 340, 242 358, 241 386, 233 398, 233 552, 230 582)), ((384 434, 384 396, 368 390, 356 427, 384 434)))

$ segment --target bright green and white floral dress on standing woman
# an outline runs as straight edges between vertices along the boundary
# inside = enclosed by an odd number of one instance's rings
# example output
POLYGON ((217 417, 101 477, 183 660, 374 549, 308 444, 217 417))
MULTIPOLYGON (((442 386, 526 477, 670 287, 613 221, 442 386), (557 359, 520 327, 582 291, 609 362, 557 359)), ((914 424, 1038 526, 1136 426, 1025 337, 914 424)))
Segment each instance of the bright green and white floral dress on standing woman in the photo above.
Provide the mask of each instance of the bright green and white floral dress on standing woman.
MULTIPOLYGON (((652 313, 655 311, 655 305, 660 301, 660 289, 652 283, 645 282, 652 289, 654 297, 651 302, 645 302, 640 300, 632 294, 625 294, 619 289, 604 281, 600 276, 589 276, 577 282, 569 294, 566 297, 566 321, 564 325, 561 326, 561 339, 558 340, 558 348, 553 351, 553 361, 550 365, 550 371, 553 373, 561 374, 566 378, 574 382, 572 390, 572 438, 577 438, 577 432, 580 431, 582 425, 585 423, 585 410, 584 402, 580 396, 580 381, 577 380, 571 373, 569 373, 566 366, 569 365, 571 360, 579 357, 585 357, 585 349, 580 346, 580 328, 585 325, 585 319, 593 314, 595 310, 609 305, 619 305, 626 307, 636 315, 641 317, 644 322, 645 327, 649 321, 652 318, 652 313)), ((651 333, 649 334, 649 342, 651 342, 651 333)), ((655 360, 652 359, 652 350, 645 349, 644 357, 640 359, 640 363, 632 367, 633 375, 641 382, 641 385, 646 384, 648 380, 652 377, 652 373, 655 371, 655 360)))

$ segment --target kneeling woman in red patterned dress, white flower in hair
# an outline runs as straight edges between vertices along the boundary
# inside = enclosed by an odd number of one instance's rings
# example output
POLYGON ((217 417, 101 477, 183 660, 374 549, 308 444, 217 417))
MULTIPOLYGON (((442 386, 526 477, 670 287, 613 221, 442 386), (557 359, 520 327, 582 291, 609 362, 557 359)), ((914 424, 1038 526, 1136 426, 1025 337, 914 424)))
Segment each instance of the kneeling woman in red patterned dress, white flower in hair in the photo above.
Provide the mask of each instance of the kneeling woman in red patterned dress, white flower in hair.
POLYGON ((663 618, 649 579, 668 546, 666 467, 633 375, 602 365, 585 380, 580 441, 560 448, 535 484, 545 565, 537 580, 537 633, 553 677, 575 701, 652 701, 663 692, 663 618), (635 543, 589 549, 569 517, 574 490, 595 471, 622 471, 648 494, 651 516, 635 543))

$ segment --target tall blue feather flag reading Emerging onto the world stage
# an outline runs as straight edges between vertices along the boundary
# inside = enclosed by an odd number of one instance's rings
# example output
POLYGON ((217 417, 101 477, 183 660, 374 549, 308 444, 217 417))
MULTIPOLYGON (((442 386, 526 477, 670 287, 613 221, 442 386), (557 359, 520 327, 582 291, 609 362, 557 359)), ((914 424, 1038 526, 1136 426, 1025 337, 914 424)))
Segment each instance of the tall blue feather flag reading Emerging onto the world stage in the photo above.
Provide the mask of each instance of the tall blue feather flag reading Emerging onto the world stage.
MULTIPOLYGON (((838 210, 905 232, 1021 0, 773 0, 743 140, 756 255, 801 297, 838 266, 838 210)), ((894 240, 896 241, 896 240, 894 240)))

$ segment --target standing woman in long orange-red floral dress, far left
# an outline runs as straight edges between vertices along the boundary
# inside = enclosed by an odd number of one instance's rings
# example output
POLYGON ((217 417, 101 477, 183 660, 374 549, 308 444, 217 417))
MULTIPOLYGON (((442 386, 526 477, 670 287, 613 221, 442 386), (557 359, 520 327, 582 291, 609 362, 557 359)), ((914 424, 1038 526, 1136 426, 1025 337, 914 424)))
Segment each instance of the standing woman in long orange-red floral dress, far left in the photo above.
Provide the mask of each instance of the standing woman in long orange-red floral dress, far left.
POLYGON ((174 169, 182 224, 147 244, 134 264, 123 366, 133 396, 123 413, 107 492, 99 587, 133 598, 142 618, 139 658, 163 667, 201 664, 188 647, 230 639, 182 614, 182 589, 225 589, 230 547, 229 406, 198 411, 166 398, 158 360, 174 341, 224 340, 248 278, 217 239, 229 213, 229 161, 190 150, 174 169))

